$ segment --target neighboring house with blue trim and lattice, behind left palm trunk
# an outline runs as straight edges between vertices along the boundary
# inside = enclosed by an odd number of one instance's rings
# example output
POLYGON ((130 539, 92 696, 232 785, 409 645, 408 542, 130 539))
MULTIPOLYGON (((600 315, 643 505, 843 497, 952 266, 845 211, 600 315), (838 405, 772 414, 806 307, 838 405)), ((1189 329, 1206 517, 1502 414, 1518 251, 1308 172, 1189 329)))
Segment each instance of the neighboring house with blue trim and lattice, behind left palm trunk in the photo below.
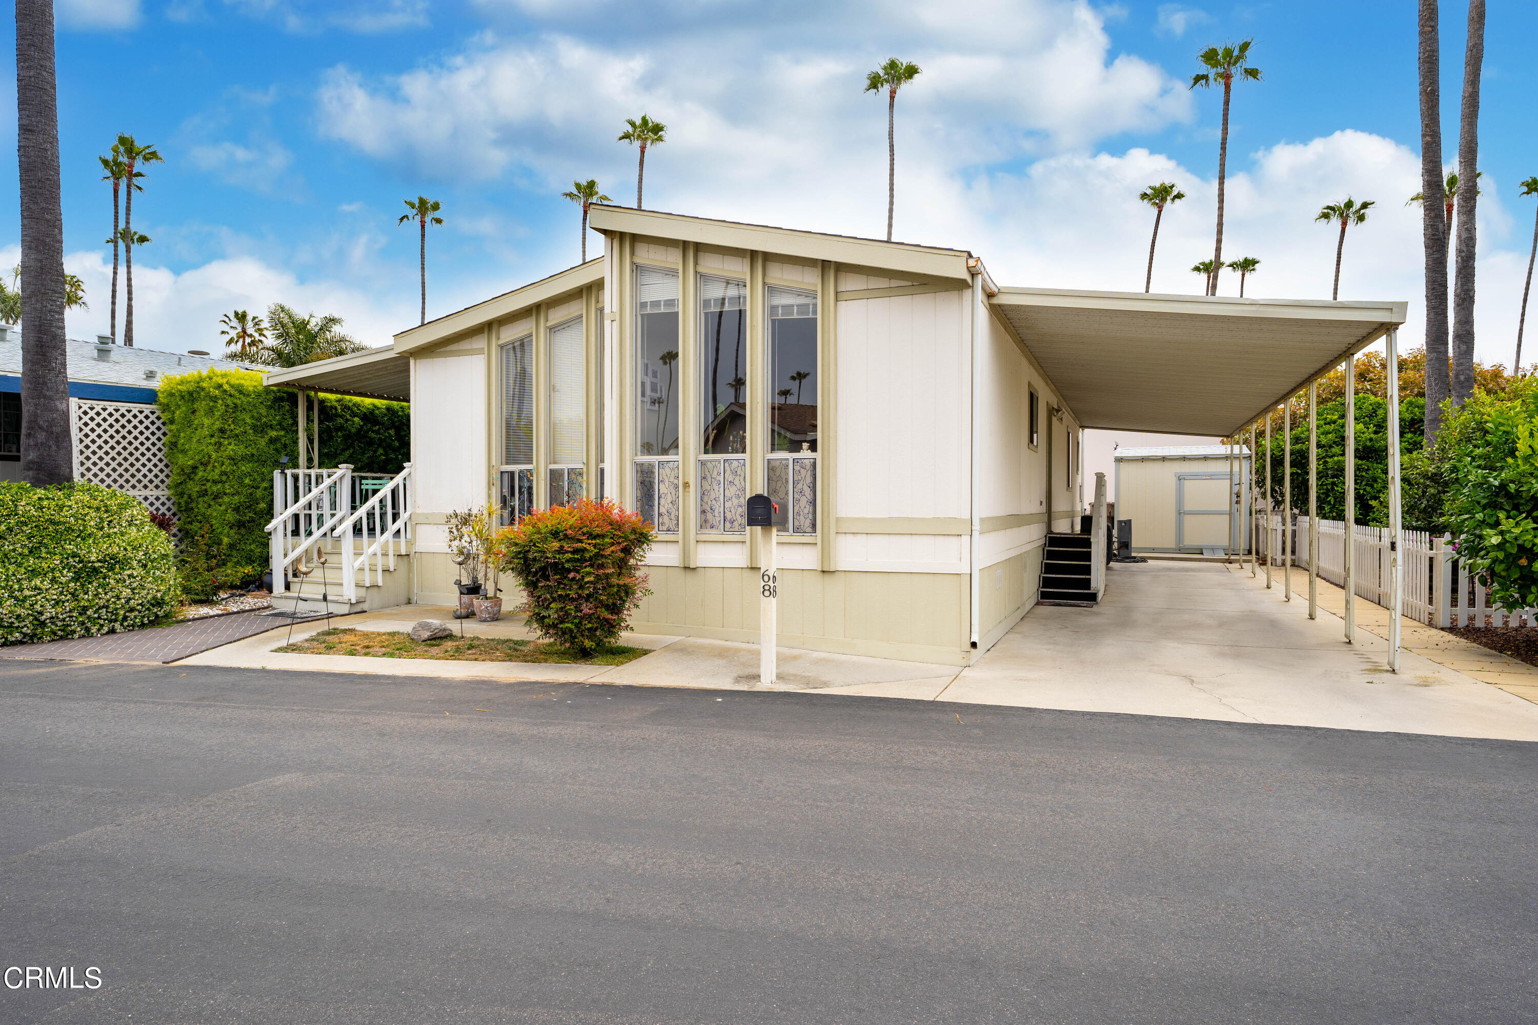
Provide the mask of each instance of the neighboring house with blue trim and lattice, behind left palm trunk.
MULTIPOLYGON (((160 381, 192 370, 261 370, 181 352, 66 341, 75 479, 115 487, 172 513, 160 381)), ((0 481, 22 479, 22 337, 0 324, 0 481)))

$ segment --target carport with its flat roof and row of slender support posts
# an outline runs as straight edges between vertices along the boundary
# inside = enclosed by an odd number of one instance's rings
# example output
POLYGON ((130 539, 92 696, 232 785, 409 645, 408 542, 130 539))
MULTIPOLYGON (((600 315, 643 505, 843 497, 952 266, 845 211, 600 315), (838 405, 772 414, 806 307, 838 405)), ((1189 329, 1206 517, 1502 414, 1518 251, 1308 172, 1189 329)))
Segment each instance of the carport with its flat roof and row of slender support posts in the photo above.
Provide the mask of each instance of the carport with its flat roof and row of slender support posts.
MULTIPOLYGON (((1063 390, 1084 427, 1147 430, 1175 435, 1221 436, 1238 444, 1246 433, 1255 450, 1257 433, 1270 441, 1273 421, 1290 443, 1289 403, 1309 393, 1309 618, 1318 618, 1318 456, 1313 420, 1320 378, 1346 367, 1346 521, 1355 509, 1355 378, 1352 358, 1383 340, 1389 381, 1389 504, 1390 530, 1400 536, 1400 424, 1397 332, 1406 303, 1260 300, 1201 295, 1146 295, 1140 292, 1083 292, 1066 289, 1000 287, 989 298, 995 317, 1020 337, 1041 369, 1063 390)), ((1290 444, 1287 446, 1290 449, 1290 444)), ((1252 476, 1264 473, 1267 501, 1264 529, 1270 529, 1270 456, 1252 476)), ((1260 481, 1257 481, 1257 486, 1260 481)), ((1098 489, 1097 489, 1098 490, 1098 489)), ((1290 469, 1283 470, 1283 509, 1292 507, 1290 469)), ((1246 506, 1253 509, 1253 499, 1246 506)), ((1289 532, 1290 516, 1283 524, 1289 532)), ((1290 539, 1289 539, 1290 541, 1290 539)), ((1240 546, 1243 550, 1246 546, 1240 546)), ((1255 575, 1253 546, 1250 573, 1255 575)), ((1400 544, 1390 564, 1392 605, 1401 604, 1400 544)), ((1290 552, 1284 541, 1283 550, 1290 552)), ((1357 642, 1352 592, 1352 546, 1346 544, 1346 641, 1357 642)), ((1230 556, 1233 549, 1230 547, 1230 556)), ((1266 585, 1272 584, 1272 556, 1266 558, 1266 585)), ((1283 601, 1292 601, 1292 566, 1281 572, 1283 601)), ((1117 576, 1106 578, 1107 592, 1117 576)), ((1197 613, 1201 615, 1201 613, 1197 613)), ((1032 630, 1044 618, 1037 609, 1015 630, 1032 630)), ((1209 618, 1210 619, 1210 618, 1209 618)), ((1213 630, 1223 630, 1212 621, 1213 630)), ((1393 618, 1387 661, 1400 672, 1398 618, 1393 618)))

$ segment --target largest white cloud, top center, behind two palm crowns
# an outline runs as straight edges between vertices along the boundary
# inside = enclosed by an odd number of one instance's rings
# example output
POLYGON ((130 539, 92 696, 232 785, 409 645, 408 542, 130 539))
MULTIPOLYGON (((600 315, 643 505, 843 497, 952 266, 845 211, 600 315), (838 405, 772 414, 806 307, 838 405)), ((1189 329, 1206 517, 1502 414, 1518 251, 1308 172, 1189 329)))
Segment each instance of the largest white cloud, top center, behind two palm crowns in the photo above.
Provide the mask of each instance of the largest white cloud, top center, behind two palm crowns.
POLYGON ((321 131, 438 178, 512 172, 554 187, 597 174, 608 184, 629 164, 614 137, 644 111, 672 129, 657 152, 671 168, 657 180, 658 200, 697 203, 701 187, 741 195, 764 181, 826 184, 883 164, 884 104, 861 88, 864 71, 891 52, 924 68, 898 98, 910 171, 1083 148, 1192 111, 1160 68, 1112 57, 1100 14, 1081 2, 984 2, 964 20, 917 2, 880 17, 863 5, 818 11, 815 38, 829 40, 821 48, 804 20, 778 9, 664 31, 674 15, 664 5, 655 12, 663 28, 624 34, 623 45, 484 35, 386 80, 337 66, 317 95, 321 131), (990 28, 977 32, 977 23, 990 28), (851 52, 849 38, 871 49, 851 52))

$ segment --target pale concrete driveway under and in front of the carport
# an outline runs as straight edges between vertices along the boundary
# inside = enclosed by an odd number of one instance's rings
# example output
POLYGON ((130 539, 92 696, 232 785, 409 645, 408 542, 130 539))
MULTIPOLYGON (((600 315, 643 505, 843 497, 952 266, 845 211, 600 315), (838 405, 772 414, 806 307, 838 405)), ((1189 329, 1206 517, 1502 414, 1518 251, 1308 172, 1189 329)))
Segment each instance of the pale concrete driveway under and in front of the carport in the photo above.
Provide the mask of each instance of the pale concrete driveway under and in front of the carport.
POLYGON ((1095 609, 1038 605, 937 695, 1037 708, 1538 741, 1538 705, 1341 621, 1247 567, 1118 564, 1095 609))

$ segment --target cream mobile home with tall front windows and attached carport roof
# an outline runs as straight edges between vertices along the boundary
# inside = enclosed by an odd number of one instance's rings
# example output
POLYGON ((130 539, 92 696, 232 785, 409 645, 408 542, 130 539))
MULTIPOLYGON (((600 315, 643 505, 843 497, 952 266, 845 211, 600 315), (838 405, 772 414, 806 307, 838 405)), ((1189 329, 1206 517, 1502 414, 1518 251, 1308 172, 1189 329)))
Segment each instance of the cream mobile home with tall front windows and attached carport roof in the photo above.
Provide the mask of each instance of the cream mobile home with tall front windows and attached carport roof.
POLYGON ((1083 429, 1226 436, 1406 310, 1003 287, 961 249, 615 206, 591 223, 597 260, 268 373, 411 401, 418 602, 452 601, 449 512, 608 496, 657 529, 635 630, 755 641, 763 492, 791 512, 781 645, 966 664, 1094 501, 1083 429))

